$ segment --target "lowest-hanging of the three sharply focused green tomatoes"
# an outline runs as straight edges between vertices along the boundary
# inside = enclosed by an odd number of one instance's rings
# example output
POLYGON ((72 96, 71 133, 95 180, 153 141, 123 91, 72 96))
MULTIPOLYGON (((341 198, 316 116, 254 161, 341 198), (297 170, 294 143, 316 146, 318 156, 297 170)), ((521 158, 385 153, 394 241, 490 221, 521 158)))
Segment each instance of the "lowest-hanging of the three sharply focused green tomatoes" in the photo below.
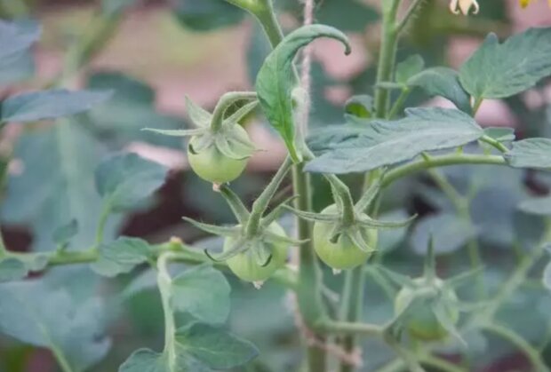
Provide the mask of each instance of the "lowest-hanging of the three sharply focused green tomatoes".
MULTIPOLYGON (((286 236, 283 227, 275 222, 268 227, 268 230, 272 233, 286 236)), ((234 238, 226 238, 224 241, 224 250, 232 247, 235 242, 236 240, 234 238)), ((272 259, 266 266, 258 264, 251 249, 229 258, 227 263, 230 270, 235 273, 238 278, 244 281, 266 281, 275 273, 275 270, 285 265, 288 249, 289 245, 285 243, 272 244, 272 259)))

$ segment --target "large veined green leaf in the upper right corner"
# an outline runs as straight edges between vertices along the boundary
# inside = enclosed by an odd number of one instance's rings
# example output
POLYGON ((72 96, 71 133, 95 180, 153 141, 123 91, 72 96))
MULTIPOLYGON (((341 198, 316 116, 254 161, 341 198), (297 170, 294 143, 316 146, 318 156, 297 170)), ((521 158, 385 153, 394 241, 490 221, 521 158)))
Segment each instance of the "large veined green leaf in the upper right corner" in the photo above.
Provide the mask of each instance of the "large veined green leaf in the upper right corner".
POLYGON ((551 75, 551 28, 529 28, 499 44, 490 34, 459 72, 475 99, 502 99, 551 75))

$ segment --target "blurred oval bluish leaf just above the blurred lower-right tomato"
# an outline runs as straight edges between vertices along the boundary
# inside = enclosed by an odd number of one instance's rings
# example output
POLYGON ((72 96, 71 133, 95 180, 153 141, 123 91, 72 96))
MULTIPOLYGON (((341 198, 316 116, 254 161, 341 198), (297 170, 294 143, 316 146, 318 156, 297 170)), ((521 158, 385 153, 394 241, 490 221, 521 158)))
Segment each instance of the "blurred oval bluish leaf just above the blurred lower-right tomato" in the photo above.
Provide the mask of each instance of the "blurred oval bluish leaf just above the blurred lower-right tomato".
POLYGON ((462 248, 477 235, 475 226, 456 214, 443 213, 428 216, 413 227, 411 248, 418 254, 426 254, 428 241, 432 237, 435 253, 451 253, 462 248))

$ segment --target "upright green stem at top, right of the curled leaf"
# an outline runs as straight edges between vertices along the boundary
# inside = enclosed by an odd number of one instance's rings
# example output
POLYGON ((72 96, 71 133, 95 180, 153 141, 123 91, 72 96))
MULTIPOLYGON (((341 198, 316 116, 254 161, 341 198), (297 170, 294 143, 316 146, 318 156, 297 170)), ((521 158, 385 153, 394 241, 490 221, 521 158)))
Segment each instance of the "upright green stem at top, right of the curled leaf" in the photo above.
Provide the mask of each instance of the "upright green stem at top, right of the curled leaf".
POLYGON ((379 51, 379 65, 377 67, 377 90, 375 91, 375 113, 379 118, 384 118, 387 115, 390 92, 386 88, 380 87, 379 83, 389 82, 392 79, 398 42, 398 32, 395 22, 399 5, 400 0, 385 0, 382 5, 382 37, 379 51))

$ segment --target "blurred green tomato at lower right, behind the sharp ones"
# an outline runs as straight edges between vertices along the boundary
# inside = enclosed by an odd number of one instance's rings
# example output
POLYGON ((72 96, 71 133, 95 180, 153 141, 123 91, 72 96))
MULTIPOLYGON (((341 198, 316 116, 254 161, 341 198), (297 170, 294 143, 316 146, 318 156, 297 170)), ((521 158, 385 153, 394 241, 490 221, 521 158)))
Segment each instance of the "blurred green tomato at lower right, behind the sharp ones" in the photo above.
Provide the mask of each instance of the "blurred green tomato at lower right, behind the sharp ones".
MULTIPOLYGON (((418 278, 414 280, 418 284, 424 283, 425 278, 418 278)), ((442 288, 443 281, 440 279, 435 280, 435 286, 442 288)), ((430 309, 429 299, 426 303, 417 302, 415 305, 406 309, 412 298, 416 296, 416 289, 403 288, 400 289, 398 295, 395 298, 395 313, 406 312, 404 315, 404 326, 407 329, 410 336, 417 338, 421 341, 438 341, 448 336, 448 331, 443 328, 440 321, 436 318, 435 313, 430 309)), ((458 297, 452 289, 445 290, 443 294, 444 300, 456 302, 458 297)), ((459 310, 451 305, 444 304, 444 309, 451 319, 453 324, 457 324, 459 321, 459 310)))

